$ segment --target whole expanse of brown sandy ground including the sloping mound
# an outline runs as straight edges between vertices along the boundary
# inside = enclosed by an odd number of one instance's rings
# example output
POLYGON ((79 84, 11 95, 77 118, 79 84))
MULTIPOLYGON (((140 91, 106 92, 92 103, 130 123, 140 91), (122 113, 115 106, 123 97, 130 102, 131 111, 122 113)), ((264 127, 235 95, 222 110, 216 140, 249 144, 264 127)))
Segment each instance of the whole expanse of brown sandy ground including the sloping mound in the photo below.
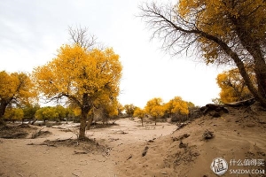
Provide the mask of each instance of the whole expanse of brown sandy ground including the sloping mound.
MULTIPOLYGON (((224 158, 229 169, 223 176, 266 176, 266 112, 231 109, 221 118, 204 116, 176 130, 158 123, 141 127, 138 119, 119 119, 117 126, 91 129, 106 149, 85 151, 66 146, 27 145, 45 140, 74 138, 65 126, 45 127, 51 135, 36 139, 0 139, 0 176, 217 176, 210 165, 224 158), (214 138, 205 140, 206 131, 214 138), (183 146, 181 146, 183 145, 183 146), (77 153, 81 152, 81 153, 77 153), (231 160, 260 159, 261 165, 231 165, 231 160), (231 169, 264 173, 232 174, 231 169), (258 172, 258 171, 256 171, 258 172)), ((68 125, 69 126, 69 125, 68 125)))

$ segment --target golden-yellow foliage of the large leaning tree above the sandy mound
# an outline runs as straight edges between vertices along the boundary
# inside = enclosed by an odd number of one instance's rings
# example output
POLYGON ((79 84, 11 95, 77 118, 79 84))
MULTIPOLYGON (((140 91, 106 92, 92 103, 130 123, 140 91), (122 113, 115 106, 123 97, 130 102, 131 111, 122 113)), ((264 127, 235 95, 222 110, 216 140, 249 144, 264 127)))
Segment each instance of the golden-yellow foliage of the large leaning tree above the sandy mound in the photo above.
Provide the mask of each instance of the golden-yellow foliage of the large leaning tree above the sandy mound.
MULTIPOLYGON (((239 20, 242 31, 252 32, 248 35, 254 39, 265 38, 265 9, 263 0, 180 0, 176 5, 176 11, 184 19, 194 20, 197 29, 227 43, 235 40, 234 19, 239 20)), ((206 38, 198 38, 198 42, 206 63, 214 63, 220 46, 206 38)))

